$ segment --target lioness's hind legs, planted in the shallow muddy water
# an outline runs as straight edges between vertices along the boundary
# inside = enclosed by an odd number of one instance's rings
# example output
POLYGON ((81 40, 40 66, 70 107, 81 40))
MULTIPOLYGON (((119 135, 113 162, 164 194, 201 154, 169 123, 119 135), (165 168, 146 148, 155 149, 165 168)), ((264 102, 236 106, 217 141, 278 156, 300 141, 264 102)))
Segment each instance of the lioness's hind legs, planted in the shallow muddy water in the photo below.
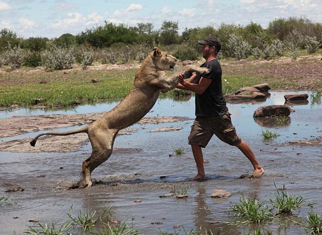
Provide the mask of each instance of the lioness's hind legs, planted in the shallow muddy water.
POLYGON ((95 168, 100 166, 106 160, 109 159, 112 154, 113 144, 118 130, 98 130, 89 131, 89 138, 92 144, 91 156, 83 161, 81 179, 76 186, 72 188, 86 188, 92 186, 91 173, 95 168), (78 186, 78 187, 77 187, 78 186))

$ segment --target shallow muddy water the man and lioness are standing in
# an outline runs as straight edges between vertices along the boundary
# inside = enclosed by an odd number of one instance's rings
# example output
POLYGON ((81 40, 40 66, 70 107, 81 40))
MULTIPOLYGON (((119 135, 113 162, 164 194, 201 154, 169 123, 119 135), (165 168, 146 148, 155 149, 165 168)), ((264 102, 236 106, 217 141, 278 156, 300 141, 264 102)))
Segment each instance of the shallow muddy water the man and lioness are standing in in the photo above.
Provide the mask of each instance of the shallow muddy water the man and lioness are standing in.
MULTIPOLYGON (((287 92, 288 94, 290 92, 287 92)), ((301 92, 302 93, 302 92, 301 92)), ((307 93, 307 92, 305 92, 307 93)), ((205 170, 208 180, 190 182, 196 174, 195 163, 187 144, 192 121, 159 125, 134 125, 139 131, 117 137, 116 151, 97 168, 92 177, 100 184, 90 189, 66 190, 78 180, 82 161, 90 152, 90 144, 79 151, 65 153, 11 153, 0 152, 0 196, 10 196, 11 203, 0 206, 0 234, 23 233, 35 226, 31 219, 61 224, 67 220, 72 205, 73 214, 83 211, 102 212, 111 207, 115 219, 134 228, 141 234, 157 234, 159 229, 174 232, 175 225, 184 225, 187 231, 200 226, 214 234, 241 234, 252 226, 232 226, 229 207, 237 203, 241 193, 268 200, 278 188, 317 202, 314 212, 322 213, 322 146, 318 144, 290 144, 290 141, 307 141, 320 138, 322 133, 322 106, 310 101, 290 104, 294 112, 290 122, 278 127, 275 120, 254 120, 254 111, 263 105, 284 104, 282 92, 271 92, 268 99, 259 103, 227 104, 238 134, 253 148, 266 173, 261 179, 238 179, 252 172, 252 166, 237 148, 213 137, 204 149, 205 170), (159 127, 183 127, 173 132, 149 132, 159 127), (264 141, 262 130, 274 131, 281 136, 264 141), (183 148, 184 154, 174 154, 183 148), (24 191, 6 193, 9 185, 21 186, 24 191), (160 198, 176 189, 190 188, 188 198, 160 198), (224 199, 211 198, 213 189, 232 194, 224 199), (136 202, 140 200, 140 202, 136 202)), ((109 110, 116 103, 87 105, 64 113, 90 113, 109 110)), ((62 113, 56 111, 55 113, 62 113)), ((0 113, 1 118, 14 115, 39 115, 41 110, 13 110, 0 113)), ((46 112, 46 114, 49 114, 46 112)), ((160 99, 147 116, 194 117, 194 98, 186 101, 160 99)), ((29 135, 30 136, 30 135, 29 135)), ((306 219, 310 208, 302 208, 297 217, 306 219)), ((279 220, 267 225, 273 234, 305 233, 295 225, 282 226, 279 220)), ((178 229, 177 229, 178 230, 178 229)), ((184 233, 181 233, 184 234, 184 233)))

